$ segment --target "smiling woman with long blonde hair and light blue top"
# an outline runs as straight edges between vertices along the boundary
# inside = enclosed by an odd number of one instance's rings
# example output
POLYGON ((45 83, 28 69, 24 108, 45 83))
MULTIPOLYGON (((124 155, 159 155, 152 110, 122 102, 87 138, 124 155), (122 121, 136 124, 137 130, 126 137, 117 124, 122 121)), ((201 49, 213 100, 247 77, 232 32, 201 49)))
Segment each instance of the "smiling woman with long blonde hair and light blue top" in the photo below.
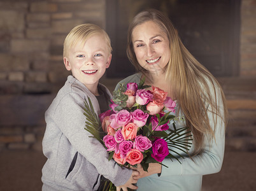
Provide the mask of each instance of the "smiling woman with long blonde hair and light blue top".
POLYGON ((176 127, 189 127, 193 136, 181 164, 164 159, 167 167, 152 163, 148 172, 139 166, 138 190, 201 190, 203 175, 218 173, 224 158, 227 108, 220 85, 181 43, 169 18, 157 10, 134 17, 127 55, 138 73, 120 83, 139 83, 145 76, 146 85, 168 92, 176 102, 176 127))

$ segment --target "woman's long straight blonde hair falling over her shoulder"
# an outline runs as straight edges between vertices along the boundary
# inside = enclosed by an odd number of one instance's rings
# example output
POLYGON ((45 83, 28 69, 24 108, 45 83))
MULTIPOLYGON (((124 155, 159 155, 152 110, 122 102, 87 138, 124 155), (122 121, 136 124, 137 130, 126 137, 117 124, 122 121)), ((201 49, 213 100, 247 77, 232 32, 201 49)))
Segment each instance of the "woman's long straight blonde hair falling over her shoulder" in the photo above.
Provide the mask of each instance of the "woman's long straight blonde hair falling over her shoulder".
MULTIPOLYGON (((204 148, 205 136, 210 141, 215 139, 215 126, 220 117, 227 122, 227 107, 222 88, 213 75, 188 52, 181 42, 177 30, 165 15, 158 10, 142 11, 133 18, 128 29, 127 56, 138 71, 147 76, 147 71, 136 59, 132 45, 132 31, 137 25, 152 20, 169 38, 171 58, 167 64, 166 81, 169 82, 169 93, 178 99, 180 110, 183 111, 187 127, 193 134, 194 154, 201 153, 204 148), (213 92, 212 92, 213 89, 213 92), (218 92, 224 105, 224 116, 220 116, 218 92), (213 127, 211 127, 207 111, 211 111, 213 127)), ((222 104, 222 103, 221 103, 222 104)))

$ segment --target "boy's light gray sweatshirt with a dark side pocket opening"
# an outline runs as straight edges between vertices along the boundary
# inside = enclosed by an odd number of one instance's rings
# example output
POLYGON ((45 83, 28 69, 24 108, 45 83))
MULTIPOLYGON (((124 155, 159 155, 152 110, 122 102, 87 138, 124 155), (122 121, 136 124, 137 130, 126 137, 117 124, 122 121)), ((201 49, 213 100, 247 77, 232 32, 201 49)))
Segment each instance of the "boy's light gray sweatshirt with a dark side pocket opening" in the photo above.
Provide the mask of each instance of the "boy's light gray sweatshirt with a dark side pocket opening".
MULTIPOLYGON (((111 94, 104 85, 99 88, 111 94)), ((45 113, 46 130, 43 153, 47 158, 42 169, 43 190, 97 190, 101 176, 116 186, 124 185, 132 171, 108 160, 108 152, 85 131, 83 108, 90 97, 94 111, 100 112, 96 97, 73 76, 68 76, 45 113)))

